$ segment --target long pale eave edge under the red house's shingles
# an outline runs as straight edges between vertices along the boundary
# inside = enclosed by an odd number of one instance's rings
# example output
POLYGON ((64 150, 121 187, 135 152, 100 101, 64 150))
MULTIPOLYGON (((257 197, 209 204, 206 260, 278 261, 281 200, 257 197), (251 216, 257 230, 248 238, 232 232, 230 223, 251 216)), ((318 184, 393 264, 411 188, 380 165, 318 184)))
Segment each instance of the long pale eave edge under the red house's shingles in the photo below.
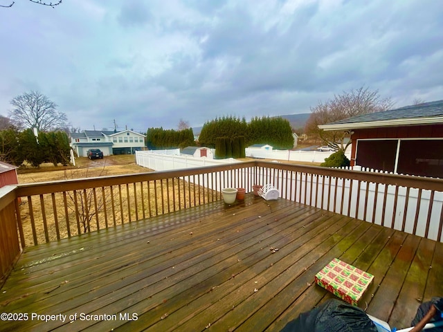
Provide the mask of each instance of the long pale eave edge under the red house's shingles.
POLYGON ((434 116, 431 118, 402 118, 395 120, 380 120, 370 122, 353 122, 353 123, 338 123, 338 124, 320 124, 318 128, 325 131, 340 131, 352 129, 366 129, 378 127, 398 127, 411 126, 418 124, 439 124, 443 123, 443 116, 434 116))

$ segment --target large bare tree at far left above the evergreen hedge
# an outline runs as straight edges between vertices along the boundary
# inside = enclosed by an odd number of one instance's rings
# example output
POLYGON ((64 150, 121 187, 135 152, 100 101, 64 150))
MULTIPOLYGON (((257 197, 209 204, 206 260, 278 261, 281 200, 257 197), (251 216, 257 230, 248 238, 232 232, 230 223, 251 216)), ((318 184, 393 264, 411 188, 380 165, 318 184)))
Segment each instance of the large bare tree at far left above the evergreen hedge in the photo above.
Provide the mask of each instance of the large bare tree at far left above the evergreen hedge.
POLYGON ((66 127, 66 114, 57 111, 57 104, 38 91, 17 95, 11 104, 14 109, 9 112, 9 117, 18 127, 37 128, 38 131, 66 127))

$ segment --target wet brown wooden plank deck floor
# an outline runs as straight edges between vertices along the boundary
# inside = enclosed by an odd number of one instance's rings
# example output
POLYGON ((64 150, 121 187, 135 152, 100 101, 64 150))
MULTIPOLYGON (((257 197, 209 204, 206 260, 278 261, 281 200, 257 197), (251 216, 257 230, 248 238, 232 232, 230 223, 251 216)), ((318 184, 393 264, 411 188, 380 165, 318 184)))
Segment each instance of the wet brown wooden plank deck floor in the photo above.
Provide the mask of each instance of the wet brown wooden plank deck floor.
POLYGON ((0 321, 0 331, 279 331, 333 296, 314 275, 334 257, 375 276, 361 308, 406 327, 420 300, 443 294, 442 252, 443 243, 250 195, 27 248, 0 312, 28 320, 0 321))

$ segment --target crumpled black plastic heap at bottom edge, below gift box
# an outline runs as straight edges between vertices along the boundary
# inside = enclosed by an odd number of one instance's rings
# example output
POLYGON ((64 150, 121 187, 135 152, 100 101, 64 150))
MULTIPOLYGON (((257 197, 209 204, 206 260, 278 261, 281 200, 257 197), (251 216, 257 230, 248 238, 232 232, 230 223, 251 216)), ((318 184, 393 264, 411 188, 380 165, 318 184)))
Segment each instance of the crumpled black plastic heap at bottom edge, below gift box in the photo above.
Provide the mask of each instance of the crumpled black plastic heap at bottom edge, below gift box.
POLYGON ((361 308, 338 299, 329 299, 317 308, 302 313, 282 332, 377 332, 361 308))

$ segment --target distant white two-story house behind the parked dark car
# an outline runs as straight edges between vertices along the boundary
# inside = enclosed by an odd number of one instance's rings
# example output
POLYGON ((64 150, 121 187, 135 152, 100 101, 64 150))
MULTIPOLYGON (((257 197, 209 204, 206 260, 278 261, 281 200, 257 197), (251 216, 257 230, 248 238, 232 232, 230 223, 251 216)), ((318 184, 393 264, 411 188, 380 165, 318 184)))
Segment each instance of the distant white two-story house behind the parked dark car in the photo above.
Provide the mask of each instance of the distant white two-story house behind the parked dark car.
POLYGON ((111 154, 134 154, 145 148, 145 135, 132 130, 98 131, 85 130, 70 133, 70 143, 78 156, 87 156, 89 149, 100 149, 104 156, 111 154))

